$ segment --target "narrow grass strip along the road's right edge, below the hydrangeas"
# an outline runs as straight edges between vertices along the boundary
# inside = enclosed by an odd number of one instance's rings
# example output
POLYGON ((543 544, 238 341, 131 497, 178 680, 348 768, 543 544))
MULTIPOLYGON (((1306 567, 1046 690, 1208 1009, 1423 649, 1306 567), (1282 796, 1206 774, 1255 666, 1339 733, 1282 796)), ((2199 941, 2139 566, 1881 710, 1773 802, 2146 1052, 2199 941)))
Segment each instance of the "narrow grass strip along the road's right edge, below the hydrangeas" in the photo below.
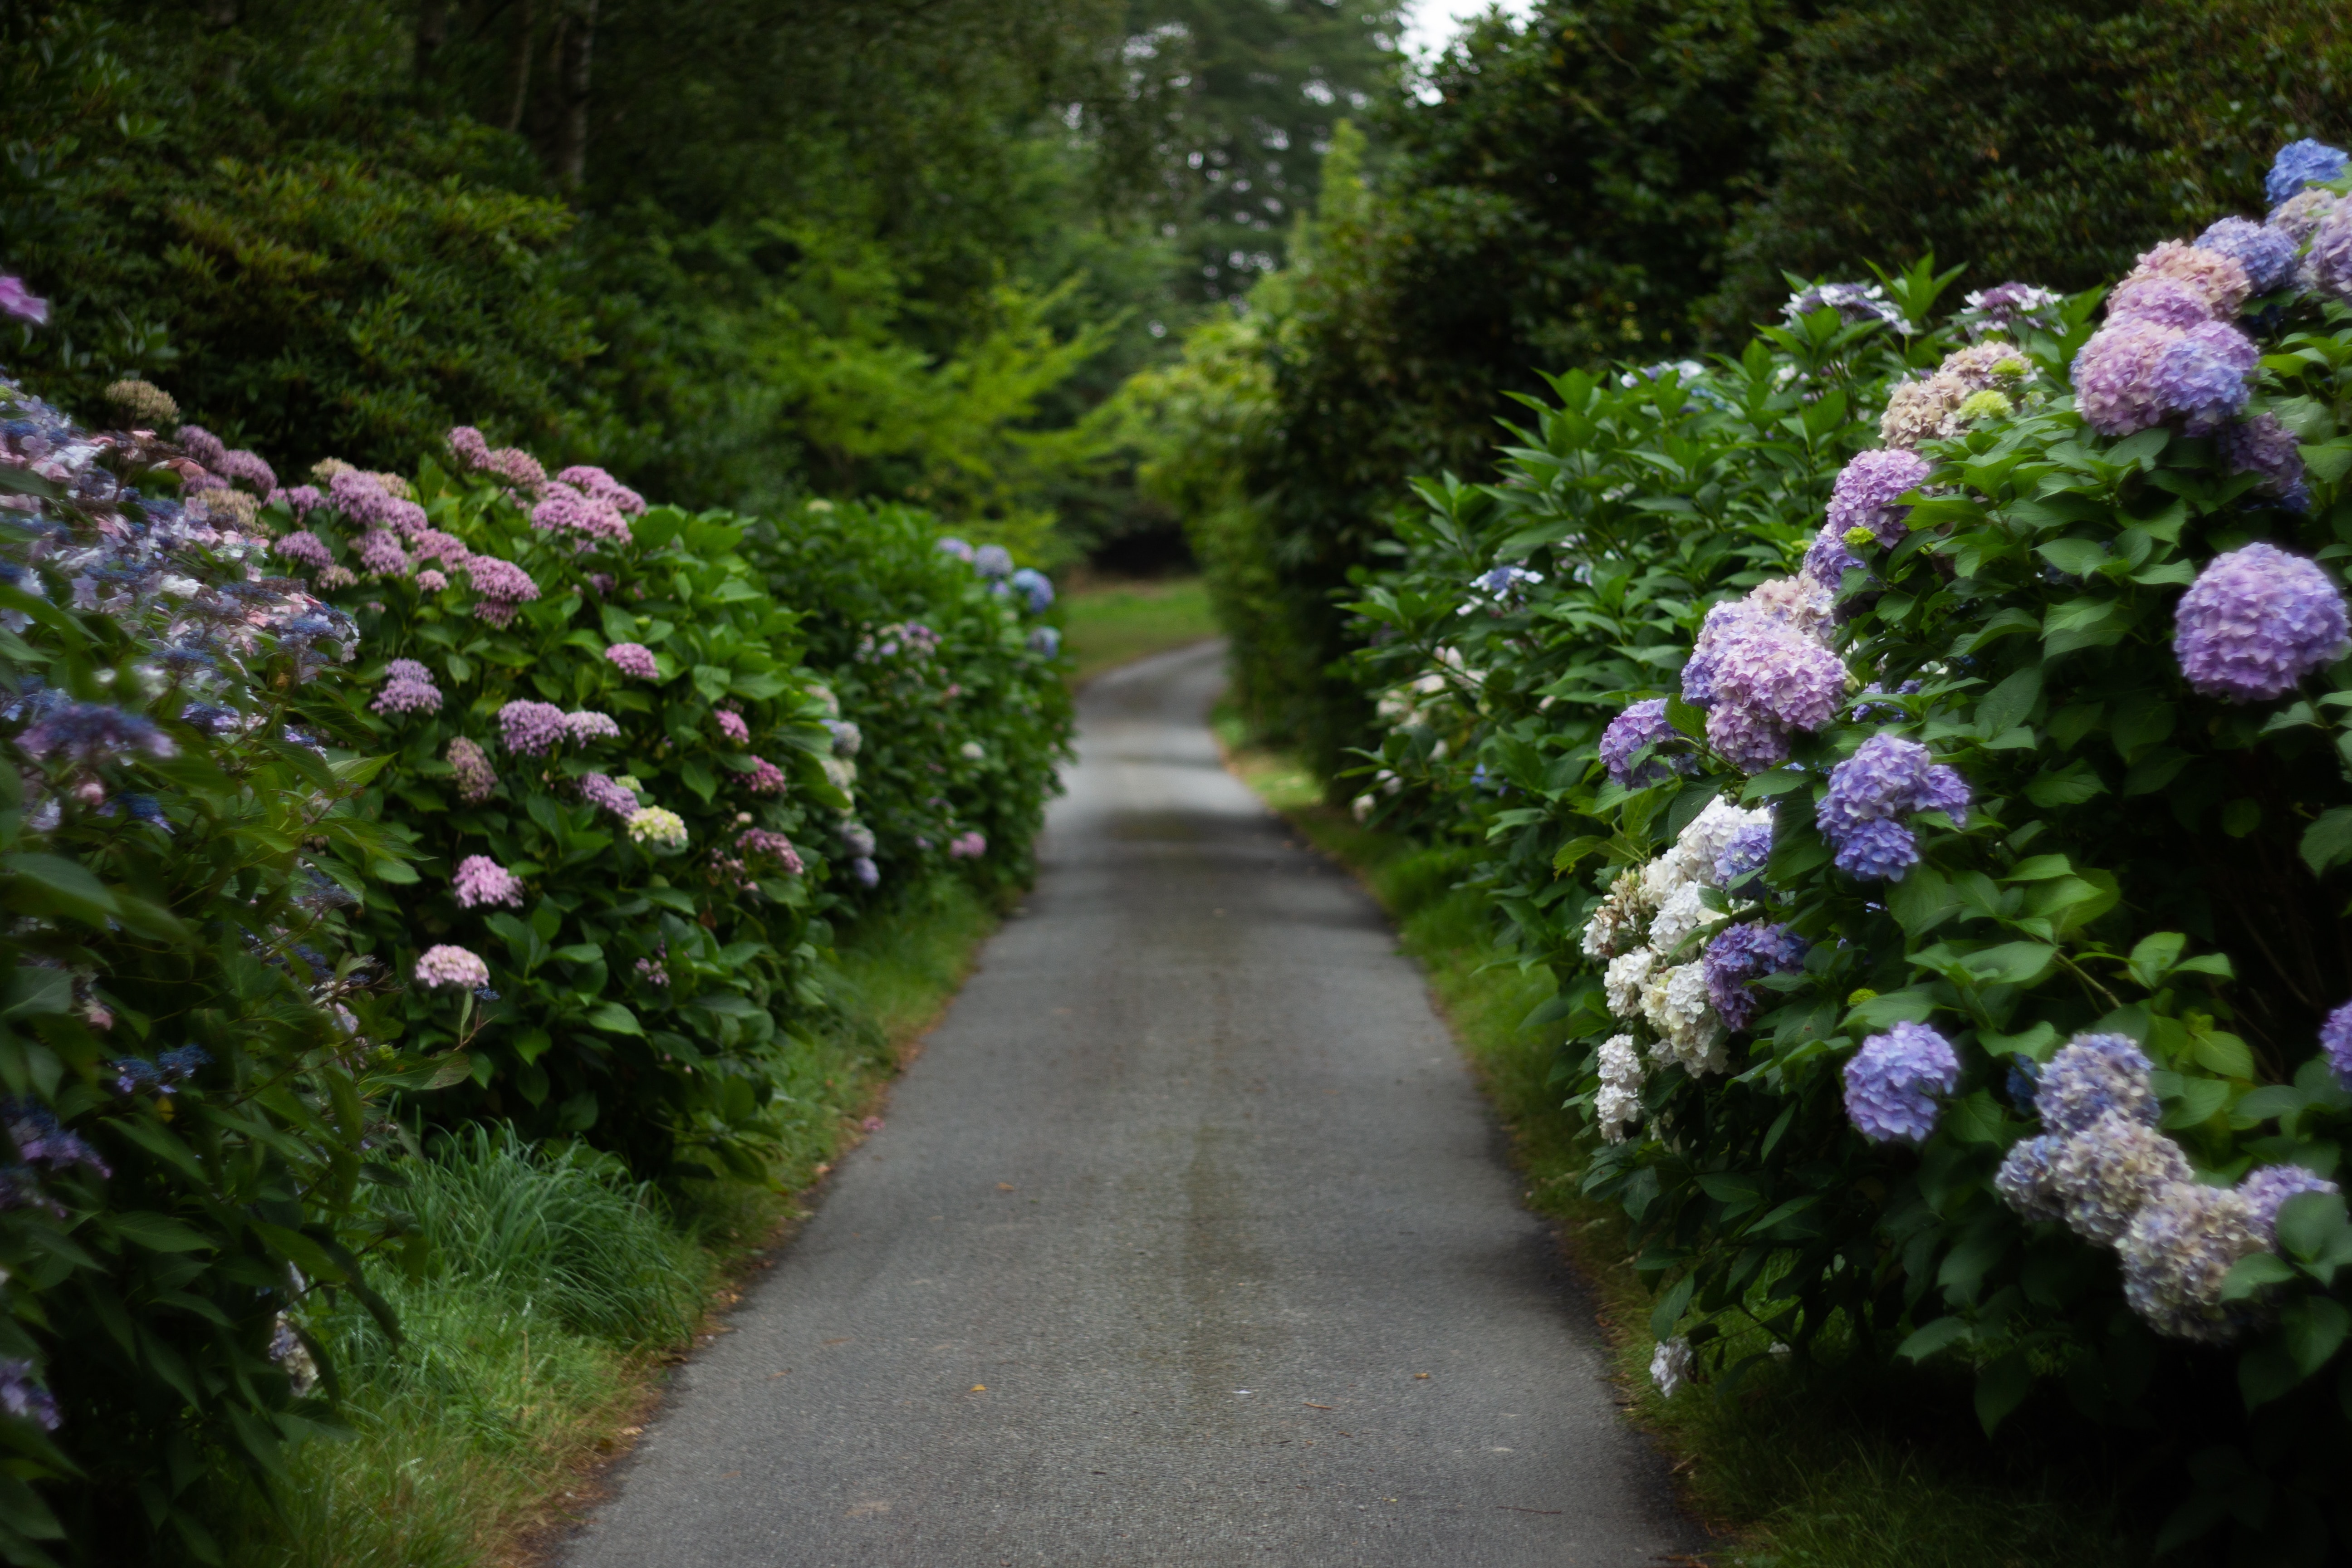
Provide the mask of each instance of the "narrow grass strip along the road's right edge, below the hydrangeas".
MULTIPOLYGON (((1649 1378, 1651 1295, 1625 1215, 1578 1192, 1581 1121, 1559 1107, 1555 1032, 1522 1020, 1555 990, 1496 945, 1484 896, 1463 886, 1470 846, 1423 846, 1357 825, 1294 759, 1249 750, 1218 719, 1228 764, 1317 849, 1348 865, 1397 922, 1430 994, 1510 1131, 1526 1201, 1562 1232, 1592 1284, 1621 1403, 1668 1453, 1686 1507, 1722 1537, 1724 1568, 2124 1568, 2150 1561, 2126 1493, 2133 1455, 2070 1420, 2027 1420, 1997 1446, 1964 1382, 1863 1356, 1776 1363, 1736 1394, 1675 1399, 1649 1378)), ((2154 1509, 2161 1516, 2161 1509, 2154 1509)))

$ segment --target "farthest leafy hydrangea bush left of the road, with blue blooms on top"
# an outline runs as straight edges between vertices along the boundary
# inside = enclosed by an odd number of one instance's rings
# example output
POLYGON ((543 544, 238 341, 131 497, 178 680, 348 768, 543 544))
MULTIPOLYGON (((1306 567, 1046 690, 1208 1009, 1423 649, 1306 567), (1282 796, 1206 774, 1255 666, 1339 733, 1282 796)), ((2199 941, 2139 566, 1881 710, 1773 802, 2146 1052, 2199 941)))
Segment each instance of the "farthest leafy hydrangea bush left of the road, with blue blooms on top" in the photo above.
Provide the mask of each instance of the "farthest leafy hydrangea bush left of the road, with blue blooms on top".
POLYGON ((858 820, 875 835, 880 900, 920 886, 967 832, 988 842, 962 858, 967 877, 985 891, 1025 886, 1070 755, 1058 632, 938 550, 938 520, 913 508, 811 501, 753 524, 743 543, 776 602, 807 611, 804 658, 858 724, 858 820), (938 644, 894 632, 908 623, 938 644))

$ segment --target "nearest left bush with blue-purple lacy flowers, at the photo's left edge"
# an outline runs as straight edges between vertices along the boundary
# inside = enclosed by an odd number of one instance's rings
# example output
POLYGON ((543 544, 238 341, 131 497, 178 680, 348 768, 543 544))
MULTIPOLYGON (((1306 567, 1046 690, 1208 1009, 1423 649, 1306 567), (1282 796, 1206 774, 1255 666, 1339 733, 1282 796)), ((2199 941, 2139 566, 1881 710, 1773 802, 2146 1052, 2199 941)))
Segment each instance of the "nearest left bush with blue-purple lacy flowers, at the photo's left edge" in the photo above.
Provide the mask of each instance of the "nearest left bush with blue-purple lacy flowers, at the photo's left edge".
POLYGON ((247 581, 254 541, 202 510, 169 534, 174 449, 94 451, 0 402, 52 449, 5 470, 38 510, 0 512, 0 1556, 219 1561, 191 1512, 207 1465, 278 1476, 329 1420, 273 1354, 280 1314, 388 1316, 353 1251, 395 1229, 362 1211, 362 1140, 430 1063, 355 1032, 381 976, 322 867, 405 875, 405 851, 355 809, 376 764, 289 729, 350 625, 247 581))

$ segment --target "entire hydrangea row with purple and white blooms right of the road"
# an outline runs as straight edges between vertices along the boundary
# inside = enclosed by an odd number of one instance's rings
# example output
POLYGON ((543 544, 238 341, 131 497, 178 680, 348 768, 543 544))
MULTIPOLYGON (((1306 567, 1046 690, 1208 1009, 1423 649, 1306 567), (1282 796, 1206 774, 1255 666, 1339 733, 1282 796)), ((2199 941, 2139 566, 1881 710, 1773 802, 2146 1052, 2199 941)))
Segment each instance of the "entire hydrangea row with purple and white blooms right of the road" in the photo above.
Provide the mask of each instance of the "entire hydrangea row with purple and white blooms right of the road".
POLYGON ((2056 1385, 2260 1561, 2352 1542, 2343 174, 2103 317, 1915 270, 1562 378, 1357 604, 1359 811, 1494 846, 1661 1375, 2056 1385))

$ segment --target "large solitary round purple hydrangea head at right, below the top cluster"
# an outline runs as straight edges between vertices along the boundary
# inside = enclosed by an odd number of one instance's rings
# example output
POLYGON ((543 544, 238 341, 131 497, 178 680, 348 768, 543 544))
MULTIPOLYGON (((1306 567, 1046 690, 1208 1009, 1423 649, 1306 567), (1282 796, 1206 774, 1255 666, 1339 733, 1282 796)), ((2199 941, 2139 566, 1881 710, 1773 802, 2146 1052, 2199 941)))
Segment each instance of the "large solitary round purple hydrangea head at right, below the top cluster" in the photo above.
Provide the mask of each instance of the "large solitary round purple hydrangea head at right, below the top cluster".
POLYGON ((2234 703, 2286 696, 2352 649, 2345 595, 2314 562, 2256 541, 2206 562, 2173 609, 2190 686, 2234 703))

